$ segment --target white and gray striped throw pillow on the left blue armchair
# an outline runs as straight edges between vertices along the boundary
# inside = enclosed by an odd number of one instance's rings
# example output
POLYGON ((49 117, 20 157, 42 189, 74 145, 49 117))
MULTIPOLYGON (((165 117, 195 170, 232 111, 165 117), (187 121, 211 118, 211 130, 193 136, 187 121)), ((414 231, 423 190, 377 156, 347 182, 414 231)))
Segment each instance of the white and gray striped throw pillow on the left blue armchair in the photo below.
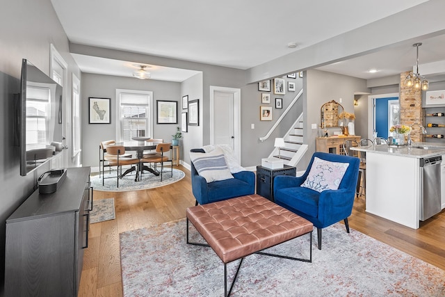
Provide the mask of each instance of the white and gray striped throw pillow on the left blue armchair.
POLYGON ((225 163, 223 150, 219 147, 211 152, 190 152, 190 159, 197 173, 208 183, 234 178, 225 163))

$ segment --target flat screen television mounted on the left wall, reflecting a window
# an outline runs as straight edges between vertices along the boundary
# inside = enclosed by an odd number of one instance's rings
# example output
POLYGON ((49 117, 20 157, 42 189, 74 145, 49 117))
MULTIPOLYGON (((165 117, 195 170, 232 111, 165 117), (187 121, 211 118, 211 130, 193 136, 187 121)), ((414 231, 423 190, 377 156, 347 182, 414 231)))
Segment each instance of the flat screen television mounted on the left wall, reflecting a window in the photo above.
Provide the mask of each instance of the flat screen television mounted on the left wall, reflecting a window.
POLYGON ((17 129, 20 175, 26 176, 62 151, 63 90, 26 59, 22 60, 17 129))

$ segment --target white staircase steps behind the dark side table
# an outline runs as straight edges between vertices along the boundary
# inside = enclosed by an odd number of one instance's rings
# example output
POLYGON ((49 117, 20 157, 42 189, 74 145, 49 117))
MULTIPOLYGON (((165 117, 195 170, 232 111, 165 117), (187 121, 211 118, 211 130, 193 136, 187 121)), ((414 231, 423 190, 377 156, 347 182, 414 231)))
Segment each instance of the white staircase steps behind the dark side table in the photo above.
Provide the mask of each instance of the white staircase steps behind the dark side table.
POLYGON ((283 163, 289 166, 296 166, 298 161, 307 151, 307 145, 303 143, 303 126, 302 115, 298 117, 293 125, 293 128, 287 131, 284 138, 284 147, 281 147, 280 152, 277 147, 269 155, 269 158, 282 159, 283 163))

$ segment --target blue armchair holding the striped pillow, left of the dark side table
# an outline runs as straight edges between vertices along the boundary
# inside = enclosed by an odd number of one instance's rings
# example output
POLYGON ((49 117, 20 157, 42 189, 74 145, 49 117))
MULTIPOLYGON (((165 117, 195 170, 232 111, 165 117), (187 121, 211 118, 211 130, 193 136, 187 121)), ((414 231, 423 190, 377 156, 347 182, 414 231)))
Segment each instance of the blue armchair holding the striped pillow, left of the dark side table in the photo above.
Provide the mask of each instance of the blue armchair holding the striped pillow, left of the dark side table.
MULTIPOLYGON (((191 152, 203 152, 202 149, 192 149, 191 152)), ((252 195, 255 193, 255 174, 252 171, 232 173, 233 179, 209 182, 198 175, 193 162, 191 162, 192 191, 196 205, 226 200, 229 198, 252 195)))

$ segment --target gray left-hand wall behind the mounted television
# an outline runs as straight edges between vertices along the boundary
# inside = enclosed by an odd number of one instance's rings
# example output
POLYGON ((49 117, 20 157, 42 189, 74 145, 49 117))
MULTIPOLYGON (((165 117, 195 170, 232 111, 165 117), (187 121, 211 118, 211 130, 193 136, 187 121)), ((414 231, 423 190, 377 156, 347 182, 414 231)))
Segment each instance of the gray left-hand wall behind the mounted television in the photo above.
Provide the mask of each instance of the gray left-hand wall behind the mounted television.
MULTIPOLYGON (((49 0, 3 0, 1 4, 0 187, 3 193, 0 198, 0 296, 3 296, 6 218, 33 192, 33 186, 42 172, 49 169, 46 165, 26 177, 19 175, 19 149, 13 146, 13 95, 19 93, 22 58, 49 74, 49 48, 51 43, 54 44, 68 63, 69 86, 64 92, 67 106, 71 106, 71 73, 80 77, 80 71, 68 53, 67 37, 49 0)), ((67 145, 71 147, 70 137, 67 138, 67 145)))

